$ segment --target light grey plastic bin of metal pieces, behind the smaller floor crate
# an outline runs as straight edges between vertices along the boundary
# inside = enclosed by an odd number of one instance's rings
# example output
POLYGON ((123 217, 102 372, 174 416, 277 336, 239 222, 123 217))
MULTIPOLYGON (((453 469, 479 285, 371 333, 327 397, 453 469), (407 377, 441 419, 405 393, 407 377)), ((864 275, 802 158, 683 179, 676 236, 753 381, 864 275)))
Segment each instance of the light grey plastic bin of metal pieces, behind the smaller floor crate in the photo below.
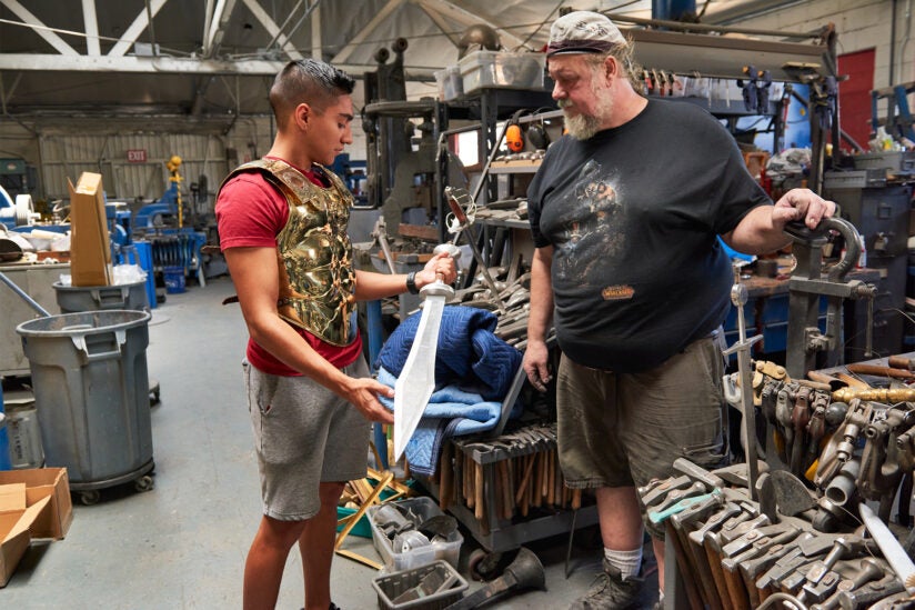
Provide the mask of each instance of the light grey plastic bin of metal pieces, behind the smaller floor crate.
MULTIPOLYGON (((418 526, 426 519, 444 514, 431 498, 410 498, 393 503, 411 510, 413 514, 418 517, 418 526)), ((390 573, 419 568, 420 566, 428 566, 438 559, 443 559, 455 568, 458 567, 458 560, 461 556, 461 544, 464 543, 464 537, 461 536, 460 531, 454 530, 451 532, 444 542, 434 541, 426 547, 418 547, 405 552, 396 552, 391 540, 384 536, 384 532, 381 531, 375 522, 375 513, 384 504, 370 507, 365 511, 365 514, 369 516, 369 523, 372 527, 372 543, 384 562, 385 571, 390 573)))

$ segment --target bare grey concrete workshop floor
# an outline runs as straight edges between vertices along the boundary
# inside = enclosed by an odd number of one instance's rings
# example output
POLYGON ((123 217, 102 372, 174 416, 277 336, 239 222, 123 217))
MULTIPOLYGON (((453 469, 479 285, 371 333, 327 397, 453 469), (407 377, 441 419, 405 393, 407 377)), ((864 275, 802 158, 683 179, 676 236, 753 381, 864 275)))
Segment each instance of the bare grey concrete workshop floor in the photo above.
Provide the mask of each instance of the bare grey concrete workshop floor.
MULTIPOLYGON (((189 281, 187 292, 169 294, 153 310, 147 360, 150 378, 161 388, 161 403, 152 407, 155 489, 109 488, 90 507, 74 496, 67 538, 32 543, 0 589, 1 608, 241 606, 242 569, 261 504, 241 376, 247 332, 238 304, 221 304, 230 294, 228 278, 205 288, 189 281)), ((545 568, 547 591, 487 607, 567 607, 600 569, 600 551, 593 544, 575 546, 566 579, 565 544, 564 537, 529 544, 545 568)), ((345 548, 380 561, 370 539, 350 537, 345 548)), ((465 531, 464 577, 474 548, 465 531)), ((653 566, 651 559, 648 563, 653 566)), ((371 568, 335 558, 334 602, 343 610, 376 608, 375 576, 371 568)), ((470 590, 480 586, 471 582, 470 590)), ((642 606, 651 607, 655 589, 652 571, 642 606)), ((278 608, 296 609, 302 601, 301 562, 293 552, 278 608)))

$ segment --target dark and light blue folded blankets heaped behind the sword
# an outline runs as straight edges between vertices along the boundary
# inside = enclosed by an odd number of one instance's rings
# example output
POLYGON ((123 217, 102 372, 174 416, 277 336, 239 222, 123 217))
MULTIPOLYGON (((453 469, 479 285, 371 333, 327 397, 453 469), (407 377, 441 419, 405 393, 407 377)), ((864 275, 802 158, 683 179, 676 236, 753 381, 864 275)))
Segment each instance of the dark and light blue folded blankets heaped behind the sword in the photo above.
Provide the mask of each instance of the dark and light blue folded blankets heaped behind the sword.
MULTIPOLYGON (((401 322, 381 348, 374 367, 378 380, 385 386, 396 384, 419 319, 416 313, 401 322)), ((444 308, 435 353, 435 391, 405 449, 415 472, 430 477, 435 473, 444 439, 490 430, 499 422, 522 357, 492 333, 495 322, 495 314, 484 309, 444 308)), ((381 402, 394 409, 392 399, 381 397, 381 402)), ((513 406, 513 414, 516 410, 517 404, 513 406)))

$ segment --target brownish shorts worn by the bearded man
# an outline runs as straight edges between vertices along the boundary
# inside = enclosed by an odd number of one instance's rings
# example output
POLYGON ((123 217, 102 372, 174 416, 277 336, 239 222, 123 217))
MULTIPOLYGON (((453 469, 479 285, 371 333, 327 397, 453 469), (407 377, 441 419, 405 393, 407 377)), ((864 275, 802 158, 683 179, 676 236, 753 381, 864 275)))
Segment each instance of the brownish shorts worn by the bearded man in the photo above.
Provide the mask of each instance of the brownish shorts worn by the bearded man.
MULTIPOLYGON (((700 339, 657 368, 612 373, 565 356, 556 374, 560 464, 571 488, 642 487, 676 458, 716 467, 725 456, 724 362, 700 339)), ((663 529, 650 527, 652 536, 663 529)))

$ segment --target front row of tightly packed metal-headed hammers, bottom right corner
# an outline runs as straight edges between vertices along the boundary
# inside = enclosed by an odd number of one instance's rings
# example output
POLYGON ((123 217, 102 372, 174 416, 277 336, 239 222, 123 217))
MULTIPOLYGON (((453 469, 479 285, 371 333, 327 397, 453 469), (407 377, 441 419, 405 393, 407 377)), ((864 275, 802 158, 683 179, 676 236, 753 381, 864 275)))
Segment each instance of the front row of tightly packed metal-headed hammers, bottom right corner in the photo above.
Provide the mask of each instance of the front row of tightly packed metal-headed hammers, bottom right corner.
POLYGON ((765 472, 756 502, 734 467, 710 472, 680 459, 674 469, 682 474, 639 491, 650 519, 665 523, 690 607, 863 609, 908 599, 906 576, 874 538, 814 528, 812 493, 803 501, 765 472))

